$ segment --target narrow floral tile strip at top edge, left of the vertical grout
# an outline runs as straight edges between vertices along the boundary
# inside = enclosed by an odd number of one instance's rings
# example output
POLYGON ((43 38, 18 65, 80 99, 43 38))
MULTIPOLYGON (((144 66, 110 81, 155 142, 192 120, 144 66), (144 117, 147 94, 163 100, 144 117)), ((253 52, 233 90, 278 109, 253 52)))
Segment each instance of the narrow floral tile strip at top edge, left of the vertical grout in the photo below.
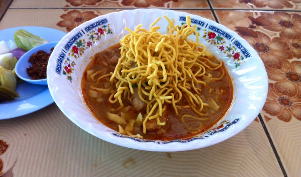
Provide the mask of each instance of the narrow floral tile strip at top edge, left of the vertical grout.
POLYGON ((209 8, 206 0, 14 0, 12 8, 209 8))

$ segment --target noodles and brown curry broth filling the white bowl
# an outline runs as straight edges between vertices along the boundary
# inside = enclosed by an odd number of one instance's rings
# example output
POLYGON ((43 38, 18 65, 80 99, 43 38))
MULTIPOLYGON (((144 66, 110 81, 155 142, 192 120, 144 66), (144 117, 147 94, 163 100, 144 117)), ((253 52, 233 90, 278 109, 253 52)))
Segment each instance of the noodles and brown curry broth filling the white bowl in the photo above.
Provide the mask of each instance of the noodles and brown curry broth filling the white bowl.
MULTIPOLYGON (((142 24, 134 31, 125 28, 129 34, 120 40, 120 53, 102 55, 108 62, 99 53, 94 56, 93 61, 107 63, 107 68, 95 68, 90 63, 84 73, 82 91, 89 109, 97 112, 95 103, 88 101, 91 93, 100 100, 98 103, 108 101, 111 106, 105 117, 115 124, 109 127, 116 129, 118 125, 121 134, 149 139, 191 136, 217 122, 232 101, 232 83, 224 64, 199 43, 196 25, 191 27, 190 17, 186 17, 187 26, 181 27, 164 17, 169 22, 167 34, 157 31, 160 27, 155 24, 160 18, 149 30, 141 28, 142 24), (188 39, 190 35, 195 35, 195 42, 188 39), (115 69, 110 70, 109 66, 115 64, 115 69), (88 80, 92 82, 87 84, 88 80), (212 115, 218 117, 212 119, 212 115), (191 121, 194 124, 187 123, 191 121), (172 132, 168 131, 173 127, 169 122, 182 123, 181 129, 193 131, 164 137, 172 132)), ((97 113, 96 116, 99 117, 97 113)), ((104 122, 108 125, 108 121, 104 122)))

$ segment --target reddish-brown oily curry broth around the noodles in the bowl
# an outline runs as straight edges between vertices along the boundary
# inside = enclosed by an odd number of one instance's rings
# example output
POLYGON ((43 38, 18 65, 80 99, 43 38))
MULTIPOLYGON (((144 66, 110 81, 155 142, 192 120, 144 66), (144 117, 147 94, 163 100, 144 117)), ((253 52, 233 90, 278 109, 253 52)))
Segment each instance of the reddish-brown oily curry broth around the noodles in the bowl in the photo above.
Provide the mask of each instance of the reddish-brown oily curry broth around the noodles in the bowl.
MULTIPOLYGON (((120 45, 116 44, 114 46, 111 46, 109 49, 113 50, 115 53, 120 53, 119 50, 120 45)), ((99 71, 102 69, 106 69, 105 73, 114 72, 115 65, 110 65, 109 63, 104 64, 104 60, 108 59, 108 56, 106 56, 106 50, 97 53, 95 58, 89 63, 87 66, 83 78, 82 78, 82 95, 85 100, 85 103, 88 107, 88 109, 92 112, 92 114, 103 124, 108 126, 111 129, 114 129, 116 131, 119 130, 118 124, 115 122, 109 120, 107 118, 106 112, 108 112, 111 108, 117 108, 119 107, 119 103, 111 104, 108 101, 108 98, 110 94, 102 95, 101 100, 91 98, 88 95, 88 90, 90 86, 98 86, 98 87, 104 87, 108 86, 111 83, 109 82, 109 76, 101 83, 96 84, 95 82, 90 81, 87 79, 87 71, 93 70, 93 71, 99 71)), ((218 63, 219 61, 214 58, 211 59, 211 61, 218 63)), ((225 71, 224 78, 219 81, 211 81, 206 82, 207 87, 202 87, 202 93, 200 94, 201 99, 204 103, 208 103, 209 98, 213 98, 214 101, 220 106, 220 109, 217 111, 214 111, 211 107, 204 107, 202 113, 206 115, 206 117, 209 117, 209 120, 202 121, 191 119, 191 118, 185 118, 184 122, 181 119, 181 115, 183 114, 191 114, 196 117, 199 117, 196 113, 194 113, 190 108, 189 109, 178 109, 179 115, 177 115, 172 108, 172 105, 167 105, 167 109, 164 112, 165 114, 163 116, 166 117, 167 121, 164 126, 162 126, 163 129, 166 130, 162 134, 162 132, 158 131, 147 131, 146 134, 143 134, 143 128, 142 126, 138 129, 135 129, 135 132, 133 134, 140 134, 144 137, 144 139, 156 139, 156 140, 171 140, 171 139, 179 139, 179 138, 187 138, 196 134, 199 134, 201 132, 206 131, 207 129, 211 128, 216 122, 218 122, 226 113, 226 111, 229 109, 230 104, 233 99, 233 85, 231 82, 231 78, 229 76, 229 73, 227 72, 224 64, 222 68, 225 71), (221 90, 224 90, 222 94, 220 94, 221 90), (208 115, 207 115, 208 114, 208 115), (198 128, 200 123, 203 124, 202 128, 198 128)), ((220 76, 220 71, 218 70, 212 71, 212 70, 206 70, 206 72, 211 73, 214 77, 220 76)), ((105 74, 104 73, 104 74, 105 74)), ((112 86, 115 87, 115 86, 112 86)), ((129 102, 127 99, 123 99, 124 107, 127 107, 131 105, 131 102, 129 102)), ((178 105, 188 105, 186 103, 186 100, 182 98, 182 100, 178 103, 178 105)), ((110 111, 111 113, 120 115, 120 111, 110 111)), ((130 109, 128 111, 130 115, 132 116, 132 119, 136 119, 139 112, 135 111, 133 109, 130 109)), ((145 114, 145 111, 142 113, 142 115, 145 114)))

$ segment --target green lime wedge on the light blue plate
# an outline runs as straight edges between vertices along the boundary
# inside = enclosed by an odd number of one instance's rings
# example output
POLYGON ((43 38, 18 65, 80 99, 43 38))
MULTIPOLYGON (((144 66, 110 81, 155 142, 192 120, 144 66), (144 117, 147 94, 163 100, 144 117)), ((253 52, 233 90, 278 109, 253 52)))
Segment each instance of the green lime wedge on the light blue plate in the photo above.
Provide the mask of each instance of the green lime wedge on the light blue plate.
POLYGON ((29 51, 30 49, 36 46, 49 42, 43 38, 40 38, 39 36, 29 33, 24 29, 17 30, 14 33, 13 38, 18 48, 22 48, 26 51, 29 51))

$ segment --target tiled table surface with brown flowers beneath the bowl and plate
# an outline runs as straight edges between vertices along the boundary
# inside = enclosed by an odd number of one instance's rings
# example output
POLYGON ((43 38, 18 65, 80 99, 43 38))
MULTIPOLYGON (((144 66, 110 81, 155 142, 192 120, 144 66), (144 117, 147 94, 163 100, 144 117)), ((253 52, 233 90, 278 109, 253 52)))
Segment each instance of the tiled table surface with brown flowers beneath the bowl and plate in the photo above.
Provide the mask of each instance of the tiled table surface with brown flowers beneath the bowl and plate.
POLYGON ((301 176, 301 0, 0 2, 0 29, 44 26, 68 32, 124 8, 197 14, 245 38, 269 76, 267 102, 250 126, 222 143, 192 151, 146 152, 107 143, 78 128, 55 104, 1 120, 0 175, 301 176))

